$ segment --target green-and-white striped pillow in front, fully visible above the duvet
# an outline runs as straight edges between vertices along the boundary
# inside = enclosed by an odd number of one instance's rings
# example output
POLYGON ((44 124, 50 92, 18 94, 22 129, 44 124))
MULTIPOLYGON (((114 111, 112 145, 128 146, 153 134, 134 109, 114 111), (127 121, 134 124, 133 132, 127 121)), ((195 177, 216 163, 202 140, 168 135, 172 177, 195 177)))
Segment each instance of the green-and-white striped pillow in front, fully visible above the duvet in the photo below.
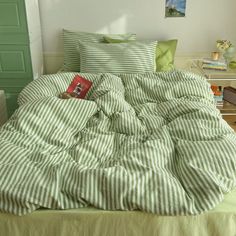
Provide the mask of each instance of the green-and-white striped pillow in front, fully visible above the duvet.
POLYGON ((156 44, 156 41, 111 44, 80 41, 81 72, 155 72, 156 44))

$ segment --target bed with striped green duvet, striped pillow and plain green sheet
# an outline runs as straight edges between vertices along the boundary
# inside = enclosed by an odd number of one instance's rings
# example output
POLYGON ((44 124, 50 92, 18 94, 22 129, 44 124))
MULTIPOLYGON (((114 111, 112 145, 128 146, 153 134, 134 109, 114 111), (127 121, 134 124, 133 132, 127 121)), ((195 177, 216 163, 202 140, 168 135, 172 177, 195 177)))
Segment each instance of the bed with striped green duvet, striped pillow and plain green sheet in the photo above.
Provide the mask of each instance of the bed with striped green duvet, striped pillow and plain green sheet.
POLYGON ((100 44, 79 63, 66 47, 68 72, 31 82, 1 128, 1 232, 235 235, 236 136, 209 84, 153 72, 156 42, 100 44), (59 98, 76 75, 86 98, 59 98))

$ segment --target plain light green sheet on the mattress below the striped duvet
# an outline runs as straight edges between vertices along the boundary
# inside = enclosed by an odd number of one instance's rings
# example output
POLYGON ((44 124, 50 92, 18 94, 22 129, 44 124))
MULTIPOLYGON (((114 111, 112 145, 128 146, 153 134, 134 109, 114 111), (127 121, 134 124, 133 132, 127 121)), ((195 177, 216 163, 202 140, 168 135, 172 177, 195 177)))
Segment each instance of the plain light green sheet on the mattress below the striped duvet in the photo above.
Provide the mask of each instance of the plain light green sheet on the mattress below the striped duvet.
POLYGON ((236 189, 215 209, 196 216, 158 216, 95 208, 37 210, 25 216, 0 214, 4 236, 235 236, 236 189))

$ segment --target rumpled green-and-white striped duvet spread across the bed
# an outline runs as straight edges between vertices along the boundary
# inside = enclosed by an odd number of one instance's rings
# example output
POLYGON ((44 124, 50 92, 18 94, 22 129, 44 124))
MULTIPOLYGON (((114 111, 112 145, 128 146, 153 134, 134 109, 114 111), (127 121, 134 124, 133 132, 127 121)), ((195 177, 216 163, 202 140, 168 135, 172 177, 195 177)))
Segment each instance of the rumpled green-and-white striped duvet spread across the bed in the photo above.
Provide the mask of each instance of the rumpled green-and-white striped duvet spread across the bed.
POLYGON ((87 100, 61 100, 75 73, 43 76, 0 129, 0 209, 197 214, 236 186, 236 136, 203 78, 180 71, 82 74, 87 100))

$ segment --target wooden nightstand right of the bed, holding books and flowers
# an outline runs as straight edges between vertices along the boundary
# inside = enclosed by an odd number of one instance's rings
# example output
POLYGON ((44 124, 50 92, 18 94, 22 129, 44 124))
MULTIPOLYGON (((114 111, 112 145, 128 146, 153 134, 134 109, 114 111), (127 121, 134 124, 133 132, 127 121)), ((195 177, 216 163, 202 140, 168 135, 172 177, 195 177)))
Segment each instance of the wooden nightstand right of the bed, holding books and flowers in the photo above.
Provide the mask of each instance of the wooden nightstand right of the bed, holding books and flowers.
MULTIPOLYGON (((201 60, 193 60, 190 71, 204 76, 212 85, 236 87, 236 70, 206 70, 202 69, 201 60)), ((236 105, 224 101, 223 106, 217 106, 217 108, 220 110, 224 120, 236 131, 236 105)))

